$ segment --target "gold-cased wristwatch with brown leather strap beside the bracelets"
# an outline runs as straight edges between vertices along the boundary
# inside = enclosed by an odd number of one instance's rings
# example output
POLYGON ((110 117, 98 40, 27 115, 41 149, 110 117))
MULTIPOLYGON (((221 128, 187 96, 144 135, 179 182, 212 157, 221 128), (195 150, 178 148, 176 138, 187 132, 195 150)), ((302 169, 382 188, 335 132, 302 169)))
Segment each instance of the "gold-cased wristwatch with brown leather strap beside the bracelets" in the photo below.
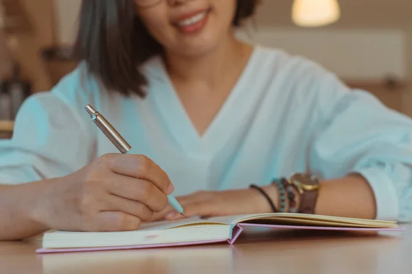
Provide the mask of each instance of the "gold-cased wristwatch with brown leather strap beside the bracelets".
POLYGON ((290 179, 289 183, 295 186, 299 191, 299 213, 314 214, 319 189, 321 183, 316 176, 306 173, 295 173, 290 179))

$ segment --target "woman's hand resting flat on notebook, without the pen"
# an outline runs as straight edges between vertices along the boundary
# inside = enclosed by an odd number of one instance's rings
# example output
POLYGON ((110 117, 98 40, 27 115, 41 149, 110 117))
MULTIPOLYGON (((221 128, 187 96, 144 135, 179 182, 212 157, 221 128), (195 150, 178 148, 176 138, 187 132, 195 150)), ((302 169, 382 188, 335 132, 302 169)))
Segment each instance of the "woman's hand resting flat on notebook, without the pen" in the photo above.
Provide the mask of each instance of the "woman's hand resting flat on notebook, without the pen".
MULTIPOLYGON (((271 212, 266 198, 255 189, 200 191, 178 197, 187 217, 225 216, 271 212)), ((169 209, 170 210, 170 209, 169 209)), ((176 220, 183 216, 176 211, 165 214, 165 219, 176 220)))

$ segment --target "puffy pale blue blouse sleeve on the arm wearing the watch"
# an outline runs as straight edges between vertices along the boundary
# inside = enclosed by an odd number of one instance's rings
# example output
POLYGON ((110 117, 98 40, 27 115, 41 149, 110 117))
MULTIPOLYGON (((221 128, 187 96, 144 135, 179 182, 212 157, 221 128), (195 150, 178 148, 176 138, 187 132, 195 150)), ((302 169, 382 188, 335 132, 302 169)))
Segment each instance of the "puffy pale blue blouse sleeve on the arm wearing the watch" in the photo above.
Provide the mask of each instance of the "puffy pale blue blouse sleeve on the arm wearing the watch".
POLYGON ((412 221, 412 120, 332 74, 315 83, 319 121, 310 169, 326 178, 363 175, 374 191, 377 219, 412 221))

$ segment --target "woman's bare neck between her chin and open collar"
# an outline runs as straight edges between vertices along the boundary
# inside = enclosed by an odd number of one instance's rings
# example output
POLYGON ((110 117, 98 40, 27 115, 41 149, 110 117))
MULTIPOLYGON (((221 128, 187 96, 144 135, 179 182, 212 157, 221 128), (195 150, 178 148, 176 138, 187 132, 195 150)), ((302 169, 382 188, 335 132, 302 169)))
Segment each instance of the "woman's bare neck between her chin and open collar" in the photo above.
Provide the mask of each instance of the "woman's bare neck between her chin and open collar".
POLYGON ((216 49, 204 55, 165 54, 168 73, 174 82, 202 84, 212 90, 227 75, 227 71, 242 66, 249 59, 251 47, 229 36, 216 49))

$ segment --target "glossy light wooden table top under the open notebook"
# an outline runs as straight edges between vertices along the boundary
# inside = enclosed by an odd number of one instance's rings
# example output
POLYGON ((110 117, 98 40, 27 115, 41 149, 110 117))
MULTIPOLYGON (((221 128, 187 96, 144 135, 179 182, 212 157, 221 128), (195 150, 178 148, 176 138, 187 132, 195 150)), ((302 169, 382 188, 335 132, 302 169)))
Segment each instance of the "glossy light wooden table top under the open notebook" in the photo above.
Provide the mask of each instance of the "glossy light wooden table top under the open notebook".
POLYGON ((368 236, 247 232, 236 245, 34 253, 33 242, 0 242, 0 273, 412 273, 412 225, 368 236))

